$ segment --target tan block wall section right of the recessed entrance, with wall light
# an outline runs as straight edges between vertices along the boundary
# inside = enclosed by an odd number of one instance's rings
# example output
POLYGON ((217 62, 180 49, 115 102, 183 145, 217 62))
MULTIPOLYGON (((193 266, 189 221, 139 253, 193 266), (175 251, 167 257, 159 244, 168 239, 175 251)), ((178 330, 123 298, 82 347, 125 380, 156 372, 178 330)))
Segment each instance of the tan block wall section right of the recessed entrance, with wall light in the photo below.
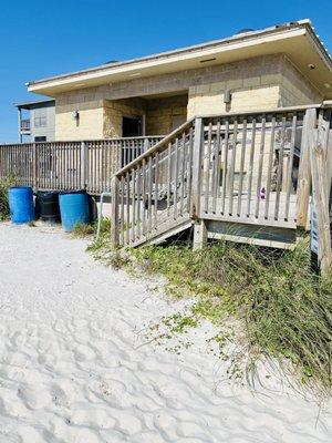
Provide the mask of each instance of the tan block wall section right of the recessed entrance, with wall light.
POLYGON ((319 92, 283 55, 251 59, 220 73, 220 80, 189 87, 188 117, 319 103, 319 92), (230 104, 224 103, 225 91, 230 104))

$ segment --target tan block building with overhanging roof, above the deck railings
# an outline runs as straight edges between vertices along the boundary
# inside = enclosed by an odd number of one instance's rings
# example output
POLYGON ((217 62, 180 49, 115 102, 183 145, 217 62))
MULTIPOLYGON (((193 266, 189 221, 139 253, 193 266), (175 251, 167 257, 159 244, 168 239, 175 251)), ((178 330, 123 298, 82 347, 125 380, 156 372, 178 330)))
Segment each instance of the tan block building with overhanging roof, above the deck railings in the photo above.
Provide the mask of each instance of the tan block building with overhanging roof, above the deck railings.
POLYGON ((332 99, 332 61, 309 20, 28 83, 55 99, 55 140, 167 134, 194 115, 332 99))

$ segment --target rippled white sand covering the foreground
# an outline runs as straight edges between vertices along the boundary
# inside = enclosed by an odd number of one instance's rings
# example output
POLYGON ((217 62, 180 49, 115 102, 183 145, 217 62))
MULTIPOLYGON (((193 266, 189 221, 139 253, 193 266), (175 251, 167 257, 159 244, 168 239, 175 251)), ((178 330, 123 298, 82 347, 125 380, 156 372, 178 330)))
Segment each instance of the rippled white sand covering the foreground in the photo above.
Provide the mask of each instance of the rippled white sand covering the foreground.
POLYGON ((0 443, 332 441, 326 405, 225 380, 208 327, 180 356, 142 346, 174 306, 85 246, 0 226, 0 443))

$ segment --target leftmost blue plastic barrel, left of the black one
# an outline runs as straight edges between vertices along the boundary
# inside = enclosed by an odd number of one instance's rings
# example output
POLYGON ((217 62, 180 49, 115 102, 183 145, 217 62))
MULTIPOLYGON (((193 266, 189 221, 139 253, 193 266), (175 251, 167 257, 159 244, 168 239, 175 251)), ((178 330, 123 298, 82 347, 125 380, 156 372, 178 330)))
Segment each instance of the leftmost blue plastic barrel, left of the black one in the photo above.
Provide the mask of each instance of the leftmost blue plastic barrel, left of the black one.
POLYGON ((13 186, 8 189, 10 218, 21 224, 34 220, 33 192, 29 186, 13 186))

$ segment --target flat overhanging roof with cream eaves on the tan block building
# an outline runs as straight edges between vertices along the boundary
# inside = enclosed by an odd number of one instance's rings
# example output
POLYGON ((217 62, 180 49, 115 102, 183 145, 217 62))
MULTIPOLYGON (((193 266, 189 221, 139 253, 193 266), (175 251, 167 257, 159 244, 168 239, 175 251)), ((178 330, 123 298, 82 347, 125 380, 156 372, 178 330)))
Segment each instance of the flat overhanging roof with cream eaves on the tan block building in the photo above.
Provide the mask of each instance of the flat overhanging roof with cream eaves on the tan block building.
POLYGON ((55 96, 73 89, 230 63, 272 53, 286 53, 320 91, 328 90, 324 94, 326 99, 332 97, 332 59, 309 20, 246 31, 226 39, 123 62, 105 63, 31 81, 27 85, 30 92, 55 96), (314 65, 315 69, 310 69, 309 65, 314 65))

